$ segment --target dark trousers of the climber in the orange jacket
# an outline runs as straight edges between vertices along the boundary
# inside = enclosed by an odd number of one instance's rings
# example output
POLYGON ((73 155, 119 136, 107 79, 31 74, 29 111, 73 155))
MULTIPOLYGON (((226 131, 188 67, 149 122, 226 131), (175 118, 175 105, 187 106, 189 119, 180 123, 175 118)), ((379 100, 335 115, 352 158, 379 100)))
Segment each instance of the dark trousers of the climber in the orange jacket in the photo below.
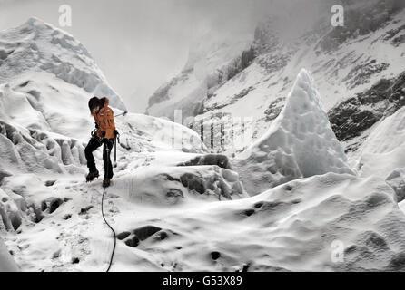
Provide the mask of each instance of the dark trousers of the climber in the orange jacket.
POLYGON ((90 172, 94 172, 95 170, 97 170, 97 168, 95 167, 93 152, 102 145, 103 145, 103 161, 104 161, 104 179, 112 179, 114 174, 110 154, 114 146, 113 139, 112 140, 104 139, 102 142, 100 142, 97 138, 90 139, 89 143, 87 144, 84 150, 85 158, 87 160, 87 167, 89 168, 90 172), (107 154, 107 148, 110 150, 109 152, 110 154, 107 154))

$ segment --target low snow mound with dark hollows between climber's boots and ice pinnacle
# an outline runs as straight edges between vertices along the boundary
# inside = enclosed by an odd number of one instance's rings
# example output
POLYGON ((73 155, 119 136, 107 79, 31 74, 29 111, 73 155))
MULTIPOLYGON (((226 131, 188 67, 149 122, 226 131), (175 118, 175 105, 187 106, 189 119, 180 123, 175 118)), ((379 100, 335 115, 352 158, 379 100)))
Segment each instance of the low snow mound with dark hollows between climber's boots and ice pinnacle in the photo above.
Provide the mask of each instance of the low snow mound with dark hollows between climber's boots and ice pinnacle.
POLYGON ((214 165, 150 166, 116 179, 112 190, 137 204, 154 206, 248 197, 236 172, 214 165))

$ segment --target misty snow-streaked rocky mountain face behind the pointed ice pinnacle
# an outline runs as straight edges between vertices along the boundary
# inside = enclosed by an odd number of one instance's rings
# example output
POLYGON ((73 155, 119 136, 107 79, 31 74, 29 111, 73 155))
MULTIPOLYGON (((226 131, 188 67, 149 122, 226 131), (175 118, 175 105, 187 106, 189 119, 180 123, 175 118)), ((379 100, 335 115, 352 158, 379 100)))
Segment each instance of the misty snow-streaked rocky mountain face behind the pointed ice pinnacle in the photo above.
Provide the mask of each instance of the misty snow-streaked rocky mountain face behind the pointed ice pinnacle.
POLYGON ((193 94, 183 81, 179 82, 182 74, 151 97, 150 106, 160 106, 161 111, 148 112, 173 116, 173 110, 183 109, 183 114, 186 111, 185 115, 195 117, 187 125, 208 134, 203 138, 206 145, 211 146, 212 139, 224 140, 222 147, 212 150, 230 151, 232 138, 246 126, 252 126, 252 140, 262 136, 282 111, 292 81, 301 68, 306 68, 313 75, 333 131, 346 150, 356 150, 367 129, 403 105, 405 3, 386 0, 340 4, 345 8, 344 26, 331 25, 331 5, 325 5, 327 9, 314 20, 312 28, 294 37, 286 37, 277 28, 291 28, 289 21, 284 20, 283 26, 274 17, 263 20, 251 45, 239 49, 226 69, 216 67, 221 77, 208 74, 203 83, 206 87, 193 94), (161 102, 162 98, 171 100, 173 91, 175 103, 161 102), (187 106, 193 95, 198 106, 190 110, 187 106), (235 118, 249 121, 232 124, 232 132, 226 131, 235 118), (229 134, 232 136, 223 137, 229 134))

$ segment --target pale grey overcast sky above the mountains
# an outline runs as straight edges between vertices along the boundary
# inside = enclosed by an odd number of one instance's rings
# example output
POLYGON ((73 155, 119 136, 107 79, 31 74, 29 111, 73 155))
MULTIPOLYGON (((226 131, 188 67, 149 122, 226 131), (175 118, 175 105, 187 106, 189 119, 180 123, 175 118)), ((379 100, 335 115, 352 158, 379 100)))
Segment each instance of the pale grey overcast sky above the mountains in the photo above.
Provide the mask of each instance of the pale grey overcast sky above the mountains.
POLYGON ((232 27, 234 34, 253 34, 263 14, 283 12, 281 27, 287 29, 285 24, 312 18, 300 17, 303 11, 317 14, 302 0, 0 0, 0 30, 30 16, 59 27, 64 4, 72 7, 73 25, 63 29, 84 44, 123 102, 137 112, 182 70, 200 32, 232 27))

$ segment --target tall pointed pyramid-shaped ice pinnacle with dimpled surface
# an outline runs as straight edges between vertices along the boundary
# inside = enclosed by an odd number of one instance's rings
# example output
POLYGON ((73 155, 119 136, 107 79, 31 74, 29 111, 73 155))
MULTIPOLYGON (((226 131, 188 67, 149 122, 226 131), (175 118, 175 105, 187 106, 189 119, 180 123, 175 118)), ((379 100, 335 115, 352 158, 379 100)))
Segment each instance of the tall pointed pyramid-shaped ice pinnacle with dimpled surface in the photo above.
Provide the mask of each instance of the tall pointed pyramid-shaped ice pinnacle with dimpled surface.
POLYGON ((311 74, 304 69, 269 130, 234 164, 251 195, 292 179, 327 172, 354 174, 321 108, 311 74))

